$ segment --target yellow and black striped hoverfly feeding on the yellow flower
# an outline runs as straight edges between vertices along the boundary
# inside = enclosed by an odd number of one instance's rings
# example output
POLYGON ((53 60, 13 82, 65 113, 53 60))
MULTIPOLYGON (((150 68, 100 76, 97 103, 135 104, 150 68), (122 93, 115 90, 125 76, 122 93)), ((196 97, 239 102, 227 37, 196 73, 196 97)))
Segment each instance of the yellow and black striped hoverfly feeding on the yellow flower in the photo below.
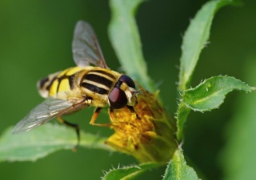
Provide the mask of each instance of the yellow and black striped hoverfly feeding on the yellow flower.
POLYGON ((72 52, 77 66, 38 81, 38 91, 46 100, 14 127, 14 134, 30 131, 56 118, 59 122, 76 128, 79 143, 78 125, 66 122, 62 119, 63 115, 94 106, 96 108, 90 124, 107 126, 109 124, 95 123, 100 110, 106 105, 110 109, 125 106, 133 109, 138 94, 134 80, 108 68, 94 29, 87 22, 77 22, 72 52))

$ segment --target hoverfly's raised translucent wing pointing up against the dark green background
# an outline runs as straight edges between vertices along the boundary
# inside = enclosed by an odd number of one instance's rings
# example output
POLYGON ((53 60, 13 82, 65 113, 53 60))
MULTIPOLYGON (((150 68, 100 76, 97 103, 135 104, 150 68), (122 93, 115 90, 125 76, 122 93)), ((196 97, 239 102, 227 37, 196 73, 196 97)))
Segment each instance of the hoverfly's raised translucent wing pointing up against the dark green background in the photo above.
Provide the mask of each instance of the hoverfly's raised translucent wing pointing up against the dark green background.
POLYGON ((72 42, 74 62, 78 66, 96 65, 108 68, 98 44, 94 29, 82 20, 78 21, 74 29, 72 42))

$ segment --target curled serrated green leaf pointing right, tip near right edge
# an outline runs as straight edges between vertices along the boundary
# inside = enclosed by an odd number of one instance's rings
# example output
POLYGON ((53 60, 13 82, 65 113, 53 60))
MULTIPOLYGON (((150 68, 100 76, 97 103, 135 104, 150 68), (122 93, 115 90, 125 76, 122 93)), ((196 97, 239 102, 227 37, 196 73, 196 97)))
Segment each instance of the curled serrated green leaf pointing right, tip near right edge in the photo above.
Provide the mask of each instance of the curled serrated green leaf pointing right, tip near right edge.
POLYGON ((218 108, 226 94, 234 90, 251 92, 255 88, 230 76, 214 76, 203 81, 196 88, 190 88, 182 95, 182 103, 194 111, 206 112, 218 108))

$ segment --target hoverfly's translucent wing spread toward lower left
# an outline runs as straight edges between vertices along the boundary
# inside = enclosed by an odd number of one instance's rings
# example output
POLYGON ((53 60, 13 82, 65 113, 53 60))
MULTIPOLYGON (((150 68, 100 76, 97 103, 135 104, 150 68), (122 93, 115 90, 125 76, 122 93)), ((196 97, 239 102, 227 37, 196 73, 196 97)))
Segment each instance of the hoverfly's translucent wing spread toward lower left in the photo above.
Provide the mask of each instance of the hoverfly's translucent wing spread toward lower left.
POLYGON ((71 102, 69 100, 59 100, 49 98, 38 104, 34 109, 30 111, 25 118, 23 118, 13 129, 13 133, 17 134, 24 131, 30 131, 35 127, 46 123, 50 119, 54 119, 60 115, 68 114, 80 106, 85 106, 82 102, 71 102))

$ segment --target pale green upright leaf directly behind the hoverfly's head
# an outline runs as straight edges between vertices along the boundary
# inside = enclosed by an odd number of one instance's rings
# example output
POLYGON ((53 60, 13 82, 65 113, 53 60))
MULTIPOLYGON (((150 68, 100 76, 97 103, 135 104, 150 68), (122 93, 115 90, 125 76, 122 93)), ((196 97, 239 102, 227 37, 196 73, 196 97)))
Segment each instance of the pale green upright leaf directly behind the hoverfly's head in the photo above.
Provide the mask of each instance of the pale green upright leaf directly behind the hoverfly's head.
POLYGON ((109 36, 126 74, 142 84, 143 88, 154 92, 154 85, 147 75, 138 28, 134 20, 141 2, 142 0, 110 0, 112 17, 109 36))

